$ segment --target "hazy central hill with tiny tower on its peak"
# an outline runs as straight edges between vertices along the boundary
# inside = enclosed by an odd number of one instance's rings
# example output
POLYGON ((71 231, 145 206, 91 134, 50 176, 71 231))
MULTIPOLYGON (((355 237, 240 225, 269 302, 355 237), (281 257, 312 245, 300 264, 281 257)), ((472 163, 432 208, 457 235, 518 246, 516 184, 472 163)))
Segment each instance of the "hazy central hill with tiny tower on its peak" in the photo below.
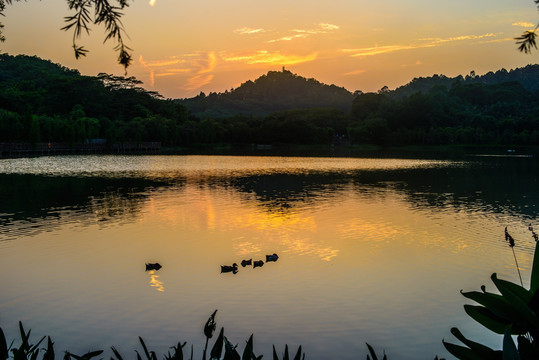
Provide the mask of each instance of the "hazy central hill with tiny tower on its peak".
POLYGON ((292 109, 333 108, 348 112, 354 95, 345 88, 307 79, 283 68, 224 93, 176 100, 199 118, 268 115, 292 109))

